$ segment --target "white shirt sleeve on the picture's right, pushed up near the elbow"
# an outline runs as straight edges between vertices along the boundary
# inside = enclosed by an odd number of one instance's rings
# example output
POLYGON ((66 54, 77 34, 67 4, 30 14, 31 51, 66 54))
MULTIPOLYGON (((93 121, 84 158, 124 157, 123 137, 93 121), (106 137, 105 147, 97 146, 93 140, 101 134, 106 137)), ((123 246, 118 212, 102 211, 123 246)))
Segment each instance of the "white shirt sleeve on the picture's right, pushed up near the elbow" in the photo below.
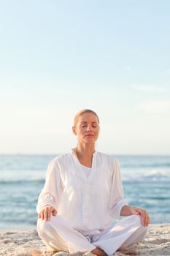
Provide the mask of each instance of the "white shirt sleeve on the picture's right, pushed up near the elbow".
POLYGON ((117 159, 114 159, 112 186, 109 197, 109 214, 116 219, 121 219, 120 211, 125 205, 128 205, 128 202, 123 198, 120 162, 117 159))

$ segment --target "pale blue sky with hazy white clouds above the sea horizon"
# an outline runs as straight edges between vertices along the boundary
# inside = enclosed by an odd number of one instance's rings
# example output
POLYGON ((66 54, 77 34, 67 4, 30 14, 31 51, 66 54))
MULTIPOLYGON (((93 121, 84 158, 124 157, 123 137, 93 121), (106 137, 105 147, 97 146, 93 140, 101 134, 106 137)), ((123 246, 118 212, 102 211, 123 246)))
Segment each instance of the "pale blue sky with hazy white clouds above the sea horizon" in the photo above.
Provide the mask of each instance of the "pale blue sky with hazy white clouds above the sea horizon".
POLYGON ((170 1, 0 1, 0 154, 170 154, 170 1))

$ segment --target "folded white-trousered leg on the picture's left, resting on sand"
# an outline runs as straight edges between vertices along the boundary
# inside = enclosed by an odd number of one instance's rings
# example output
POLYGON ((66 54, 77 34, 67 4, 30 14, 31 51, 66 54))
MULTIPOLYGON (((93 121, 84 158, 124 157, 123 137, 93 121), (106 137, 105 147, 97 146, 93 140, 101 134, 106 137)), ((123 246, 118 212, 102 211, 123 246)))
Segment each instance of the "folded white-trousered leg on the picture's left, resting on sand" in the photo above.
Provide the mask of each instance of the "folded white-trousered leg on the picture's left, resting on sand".
POLYGON ((85 252, 96 249, 88 238, 74 230, 60 215, 51 216, 49 221, 38 219, 37 231, 47 248, 65 252, 85 252))

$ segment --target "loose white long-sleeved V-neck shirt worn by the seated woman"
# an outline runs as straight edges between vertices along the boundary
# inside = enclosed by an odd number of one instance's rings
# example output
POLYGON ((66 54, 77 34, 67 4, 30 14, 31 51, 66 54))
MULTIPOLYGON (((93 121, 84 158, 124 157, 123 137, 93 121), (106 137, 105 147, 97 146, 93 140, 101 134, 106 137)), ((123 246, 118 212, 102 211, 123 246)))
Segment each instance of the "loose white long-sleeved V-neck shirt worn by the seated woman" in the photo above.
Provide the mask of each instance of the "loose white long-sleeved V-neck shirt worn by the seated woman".
POLYGON ((87 176, 73 149, 52 159, 47 167, 45 186, 39 195, 36 211, 50 204, 81 233, 96 234, 120 219, 123 199, 120 163, 115 157, 93 153, 87 176))

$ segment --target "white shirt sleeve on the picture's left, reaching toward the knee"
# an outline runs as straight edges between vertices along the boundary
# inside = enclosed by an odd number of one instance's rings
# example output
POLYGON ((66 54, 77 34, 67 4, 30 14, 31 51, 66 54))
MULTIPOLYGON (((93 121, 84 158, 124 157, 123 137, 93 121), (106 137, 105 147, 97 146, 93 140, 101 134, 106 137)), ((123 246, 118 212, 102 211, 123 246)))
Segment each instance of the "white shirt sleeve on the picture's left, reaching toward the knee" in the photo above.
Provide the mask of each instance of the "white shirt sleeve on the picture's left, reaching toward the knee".
POLYGON ((62 186, 60 170, 53 160, 47 167, 47 173, 45 178, 45 186, 43 187, 36 206, 36 211, 39 214, 42 208, 49 204, 58 211, 59 201, 61 197, 62 186))

